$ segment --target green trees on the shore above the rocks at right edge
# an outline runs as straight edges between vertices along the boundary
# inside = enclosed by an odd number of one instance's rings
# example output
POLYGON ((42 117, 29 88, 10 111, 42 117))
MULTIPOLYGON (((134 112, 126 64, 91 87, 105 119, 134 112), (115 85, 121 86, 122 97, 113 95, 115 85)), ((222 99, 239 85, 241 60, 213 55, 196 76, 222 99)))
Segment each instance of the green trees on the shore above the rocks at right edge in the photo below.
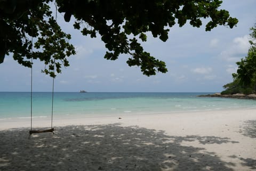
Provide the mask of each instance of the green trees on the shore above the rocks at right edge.
POLYGON ((233 82, 223 86, 226 89, 221 92, 222 95, 256 93, 256 23, 251 31, 249 40, 251 47, 248 54, 241 61, 236 62, 238 69, 232 74, 233 82))

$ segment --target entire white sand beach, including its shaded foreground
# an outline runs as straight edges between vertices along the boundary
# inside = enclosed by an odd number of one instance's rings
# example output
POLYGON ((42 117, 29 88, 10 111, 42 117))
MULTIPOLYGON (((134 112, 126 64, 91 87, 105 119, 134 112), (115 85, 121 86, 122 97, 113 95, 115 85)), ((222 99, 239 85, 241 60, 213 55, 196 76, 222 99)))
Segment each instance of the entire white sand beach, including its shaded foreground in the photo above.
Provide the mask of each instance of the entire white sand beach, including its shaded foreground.
POLYGON ((0 170, 256 170, 256 109, 53 121, 1 121, 0 170))

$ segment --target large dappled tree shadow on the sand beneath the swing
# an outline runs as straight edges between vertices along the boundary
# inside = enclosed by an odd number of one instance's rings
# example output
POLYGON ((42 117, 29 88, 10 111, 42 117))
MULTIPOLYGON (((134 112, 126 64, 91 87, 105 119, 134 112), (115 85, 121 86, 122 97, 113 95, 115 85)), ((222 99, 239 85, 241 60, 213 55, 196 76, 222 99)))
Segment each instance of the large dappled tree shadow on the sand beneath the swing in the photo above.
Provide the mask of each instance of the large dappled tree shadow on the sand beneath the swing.
POLYGON ((0 132, 0 170, 233 170, 204 148, 181 145, 237 143, 215 136, 169 136, 119 124, 66 126, 55 134, 28 129, 0 132))

